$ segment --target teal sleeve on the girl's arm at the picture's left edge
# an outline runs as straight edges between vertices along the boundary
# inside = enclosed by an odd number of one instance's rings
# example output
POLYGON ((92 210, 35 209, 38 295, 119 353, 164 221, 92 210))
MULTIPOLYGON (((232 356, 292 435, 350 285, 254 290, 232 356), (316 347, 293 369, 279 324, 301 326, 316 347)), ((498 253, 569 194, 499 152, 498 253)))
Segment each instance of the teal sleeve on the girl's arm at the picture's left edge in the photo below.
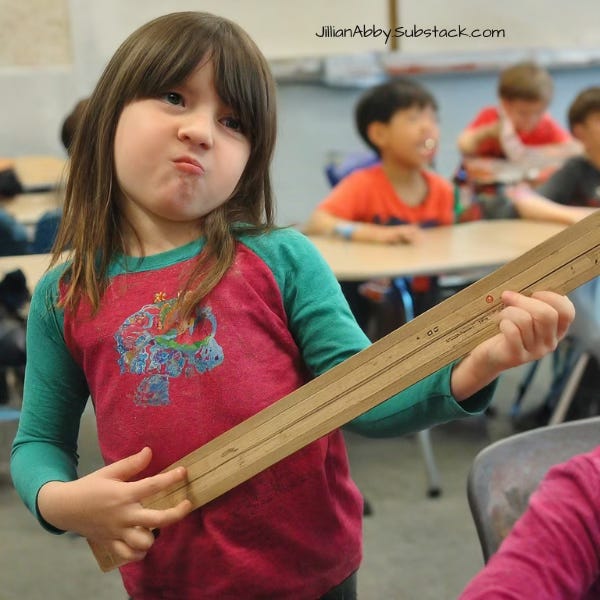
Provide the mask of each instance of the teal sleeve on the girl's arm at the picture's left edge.
POLYGON ((51 531, 38 513, 37 494, 49 481, 77 478, 79 423, 89 394, 63 338, 56 307, 59 272, 46 274, 31 300, 23 407, 11 454, 15 488, 51 531))

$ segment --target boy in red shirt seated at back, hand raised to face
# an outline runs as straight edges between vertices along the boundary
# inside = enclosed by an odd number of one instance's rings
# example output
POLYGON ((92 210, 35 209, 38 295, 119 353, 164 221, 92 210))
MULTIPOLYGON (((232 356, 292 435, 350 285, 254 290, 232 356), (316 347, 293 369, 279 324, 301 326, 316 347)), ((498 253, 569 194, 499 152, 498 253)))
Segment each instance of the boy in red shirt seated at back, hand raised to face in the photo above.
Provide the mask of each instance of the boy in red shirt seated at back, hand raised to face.
POLYGON ((548 114, 552 95, 550 74, 534 63, 502 71, 498 106, 481 110, 458 137, 464 157, 455 176, 465 199, 460 221, 521 216, 504 185, 539 183, 580 151, 578 142, 548 114))

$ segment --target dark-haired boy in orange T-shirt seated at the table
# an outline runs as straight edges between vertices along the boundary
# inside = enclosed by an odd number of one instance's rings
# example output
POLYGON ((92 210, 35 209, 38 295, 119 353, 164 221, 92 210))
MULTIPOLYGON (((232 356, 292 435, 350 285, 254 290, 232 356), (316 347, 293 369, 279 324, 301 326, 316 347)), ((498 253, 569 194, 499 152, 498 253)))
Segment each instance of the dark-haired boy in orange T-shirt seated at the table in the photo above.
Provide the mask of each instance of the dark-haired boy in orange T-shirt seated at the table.
MULTIPOLYGON (((431 93, 413 80, 390 81, 361 97, 355 118, 362 139, 381 163, 357 170, 335 186, 311 215, 308 232, 415 243, 420 227, 452 224, 452 186, 428 168, 439 139, 431 93)), ((358 284, 345 282, 342 289, 366 329, 369 304, 358 293, 358 284)))

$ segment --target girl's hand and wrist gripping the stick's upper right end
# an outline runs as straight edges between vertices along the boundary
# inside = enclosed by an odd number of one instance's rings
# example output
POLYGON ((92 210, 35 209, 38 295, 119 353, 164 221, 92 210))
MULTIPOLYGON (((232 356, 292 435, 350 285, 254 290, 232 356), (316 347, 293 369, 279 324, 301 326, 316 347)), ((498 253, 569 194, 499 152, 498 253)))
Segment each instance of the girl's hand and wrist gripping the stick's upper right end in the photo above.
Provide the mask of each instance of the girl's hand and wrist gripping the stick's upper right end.
POLYGON ((452 372, 452 393, 464 400, 502 371, 538 360, 553 352, 575 318, 566 296, 535 292, 531 297, 504 292, 500 332, 482 342, 452 372))

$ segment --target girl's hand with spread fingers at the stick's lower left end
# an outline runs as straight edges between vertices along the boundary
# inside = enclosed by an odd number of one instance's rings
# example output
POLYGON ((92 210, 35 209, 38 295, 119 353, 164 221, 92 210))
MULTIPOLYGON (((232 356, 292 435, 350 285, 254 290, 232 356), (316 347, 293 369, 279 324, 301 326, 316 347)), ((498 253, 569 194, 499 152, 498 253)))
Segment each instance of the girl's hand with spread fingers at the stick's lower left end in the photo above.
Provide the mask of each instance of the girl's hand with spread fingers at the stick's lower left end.
POLYGON ((152 531, 180 521, 192 510, 189 500, 165 510, 142 506, 144 498, 186 477, 185 469, 178 467, 130 481, 151 458, 150 448, 144 448, 81 479, 47 483, 38 494, 40 514, 58 529, 102 544, 124 562, 142 560, 154 543, 152 531))

